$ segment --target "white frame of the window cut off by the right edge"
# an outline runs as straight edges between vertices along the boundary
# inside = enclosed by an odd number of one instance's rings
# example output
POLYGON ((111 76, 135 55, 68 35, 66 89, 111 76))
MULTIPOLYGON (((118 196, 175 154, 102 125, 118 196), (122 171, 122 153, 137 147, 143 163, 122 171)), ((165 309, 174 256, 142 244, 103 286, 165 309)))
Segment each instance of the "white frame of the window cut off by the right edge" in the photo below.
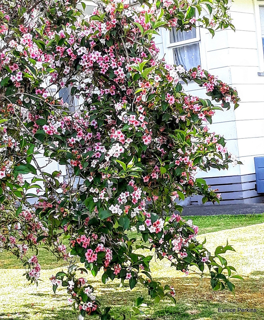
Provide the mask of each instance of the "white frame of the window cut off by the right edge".
POLYGON ((262 43, 261 35, 261 24, 260 24, 260 7, 264 7, 263 0, 253 0, 255 23, 256 23, 256 36, 257 36, 257 51, 259 56, 259 71, 264 72, 264 48, 262 43))

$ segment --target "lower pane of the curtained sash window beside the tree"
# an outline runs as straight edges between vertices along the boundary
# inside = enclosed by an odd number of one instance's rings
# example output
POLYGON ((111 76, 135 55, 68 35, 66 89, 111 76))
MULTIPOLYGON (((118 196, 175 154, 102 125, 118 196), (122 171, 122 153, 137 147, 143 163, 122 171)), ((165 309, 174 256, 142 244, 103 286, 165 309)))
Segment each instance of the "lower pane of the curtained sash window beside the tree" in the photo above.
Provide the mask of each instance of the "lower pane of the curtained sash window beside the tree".
POLYGON ((175 64, 186 70, 201 65, 199 43, 187 44, 173 49, 175 64))

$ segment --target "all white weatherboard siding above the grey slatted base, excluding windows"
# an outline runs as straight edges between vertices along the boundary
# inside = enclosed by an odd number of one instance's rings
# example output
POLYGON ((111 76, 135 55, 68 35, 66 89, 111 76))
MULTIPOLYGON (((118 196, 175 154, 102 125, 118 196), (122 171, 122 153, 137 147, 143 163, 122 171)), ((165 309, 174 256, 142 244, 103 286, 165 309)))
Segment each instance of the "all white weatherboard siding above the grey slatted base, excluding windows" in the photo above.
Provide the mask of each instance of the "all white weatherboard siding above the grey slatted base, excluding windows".
MULTIPOLYGON (((228 150, 236 154, 243 165, 230 166, 228 171, 210 170, 197 176, 223 177, 255 173, 254 156, 264 154, 264 57, 258 6, 264 1, 235 0, 230 12, 236 31, 218 30, 212 38, 200 32, 204 46, 202 68, 218 76, 238 91, 240 107, 235 111, 217 111, 210 130, 227 140, 228 150), (257 7, 257 10, 256 10, 257 7)), ((164 38, 164 36, 163 36, 164 38)), ((166 48, 166 44, 164 46, 166 48)), ((164 50, 166 51, 166 50, 164 50)), ((205 90, 191 84, 186 91, 205 97, 205 90)))

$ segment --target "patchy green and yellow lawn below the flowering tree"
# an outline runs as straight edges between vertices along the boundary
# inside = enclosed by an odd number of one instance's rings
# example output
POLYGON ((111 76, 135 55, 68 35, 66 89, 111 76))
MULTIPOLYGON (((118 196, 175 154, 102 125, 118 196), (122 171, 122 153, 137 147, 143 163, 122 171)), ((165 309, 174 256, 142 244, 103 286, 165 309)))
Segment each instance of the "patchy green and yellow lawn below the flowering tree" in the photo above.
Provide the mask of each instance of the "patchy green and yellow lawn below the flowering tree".
MULTIPOLYGON (((170 300, 159 304, 149 299, 140 284, 131 291, 126 284, 119 287, 119 282, 102 284, 101 273, 95 278, 88 276, 95 287, 95 294, 102 305, 111 305, 116 310, 125 310, 133 306, 133 301, 144 296, 148 308, 143 308, 145 320, 264 320, 264 223, 262 215, 192 217, 200 228, 199 239, 206 236, 206 247, 213 251, 218 245, 233 245, 236 252, 225 254, 227 261, 237 269, 245 281, 235 281, 235 296, 227 291, 213 292, 209 279, 201 279, 191 273, 183 276, 181 272, 170 268, 168 262, 152 261, 153 278, 162 284, 172 284, 176 289, 177 304, 170 300), (228 218, 230 220, 225 222, 228 218), (239 219, 241 218, 241 219, 239 219), (209 219, 209 221, 206 221, 209 219), (241 227, 243 226, 243 227, 241 227), (240 227, 240 228, 236 228, 240 227), (216 230, 220 231, 216 231, 216 230), (205 235, 206 233, 206 235, 205 235), (220 313, 218 308, 256 308, 257 312, 220 313)), ((45 268, 42 270, 39 286, 29 286, 23 277, 23 270, 16 261, 3 253, 0 256, 0 319, 28 320, 73 320, 76 313, 67 306, 67 293, 64 289, 52 293, 49 277, 63 266, 52 260, 52 256, 40 252, 45 268), (12 260, 12 262, 10 262, 12 260), (45 261, 44 261, 45 260, 45 261), (15 265, 16 262, 16 265, 15 265), (4 264, 7 264, 5 268, 4 264), (9 266, 14 265, 9 269, 9 266), (16 268, 15 268, 16 267, 16 268)), ((154 259, 153 259, 154 260, 154 259)), ((43 264, 43 263, 42 263, 43 264)), ((65 267, 64 267, 65 268, 65 267)))

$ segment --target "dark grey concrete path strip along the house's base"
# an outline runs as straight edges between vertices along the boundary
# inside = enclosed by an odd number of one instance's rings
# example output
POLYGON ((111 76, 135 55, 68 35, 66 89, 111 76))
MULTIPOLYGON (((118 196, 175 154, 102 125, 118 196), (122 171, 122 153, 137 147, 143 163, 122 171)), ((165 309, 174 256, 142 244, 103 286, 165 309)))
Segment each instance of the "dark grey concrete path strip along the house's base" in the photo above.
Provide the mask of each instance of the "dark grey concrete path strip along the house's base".
POLYGON ((212 216, 221 214, 257 214, 264 213, 264 203, 258 204, 217 204, 217 205, 188 205, 182 215, 212 216))

